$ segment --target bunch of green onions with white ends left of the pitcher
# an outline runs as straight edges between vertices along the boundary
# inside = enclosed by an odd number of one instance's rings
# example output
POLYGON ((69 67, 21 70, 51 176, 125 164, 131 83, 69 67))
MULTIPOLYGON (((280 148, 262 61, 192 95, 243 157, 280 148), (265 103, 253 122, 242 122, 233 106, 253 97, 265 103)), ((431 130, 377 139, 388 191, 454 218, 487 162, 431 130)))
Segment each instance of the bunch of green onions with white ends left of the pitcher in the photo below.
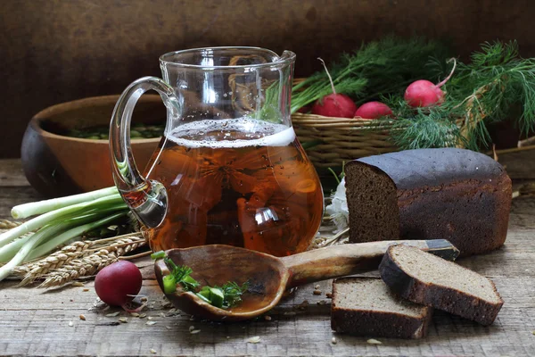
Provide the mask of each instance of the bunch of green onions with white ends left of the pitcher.
POLYGON ((128 215, 117 187, 80 195, 25 203, 12 208, 14 219, 35 218, 0 234, 0 280, 24 262, 36 260, 59 245, 128 215))

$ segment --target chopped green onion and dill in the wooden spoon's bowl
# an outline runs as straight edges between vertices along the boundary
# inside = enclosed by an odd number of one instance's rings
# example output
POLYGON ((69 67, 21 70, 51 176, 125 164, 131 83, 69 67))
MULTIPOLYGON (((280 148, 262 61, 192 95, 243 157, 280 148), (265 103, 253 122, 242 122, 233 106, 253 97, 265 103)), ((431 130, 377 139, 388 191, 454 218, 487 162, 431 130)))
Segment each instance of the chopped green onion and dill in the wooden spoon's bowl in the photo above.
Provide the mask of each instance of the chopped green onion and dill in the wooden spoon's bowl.
POLYGON ((190 291, 197 295, 202 301, 210 303, 219 309, 229 309, 242 303, 242 295, 249 288, 249 282, 245 282, 239 286, 234 281, 228 281, 223 286, 202 286, 191 277, 193 270, 189 267, 177 266, 175 262, 165 255, 164 252, 152 253, 152 259, 161 259, 169 268, 170 274, 163 277, 163 292, 165 294, 173 294, 177 291, 177 284, 182 286, 184 291, 190 291))

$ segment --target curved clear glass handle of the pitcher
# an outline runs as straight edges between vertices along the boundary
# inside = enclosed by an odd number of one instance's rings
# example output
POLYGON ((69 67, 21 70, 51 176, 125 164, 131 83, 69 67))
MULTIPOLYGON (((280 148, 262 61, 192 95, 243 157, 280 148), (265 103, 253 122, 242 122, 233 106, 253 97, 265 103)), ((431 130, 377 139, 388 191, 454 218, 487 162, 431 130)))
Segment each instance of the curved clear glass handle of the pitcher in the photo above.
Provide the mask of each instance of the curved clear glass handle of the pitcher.
POLYGON ((139 97, 151 89, 158 92, 171 115, 179 111, 173 87, 162 79, 144 77, 132 82, 119 96, 111 115, 110 155, 113 180, 123 200, 144 226, 155 228, 167 212, 167 191, 161 182, 143 177, 130 148, 132 112, 139 97))

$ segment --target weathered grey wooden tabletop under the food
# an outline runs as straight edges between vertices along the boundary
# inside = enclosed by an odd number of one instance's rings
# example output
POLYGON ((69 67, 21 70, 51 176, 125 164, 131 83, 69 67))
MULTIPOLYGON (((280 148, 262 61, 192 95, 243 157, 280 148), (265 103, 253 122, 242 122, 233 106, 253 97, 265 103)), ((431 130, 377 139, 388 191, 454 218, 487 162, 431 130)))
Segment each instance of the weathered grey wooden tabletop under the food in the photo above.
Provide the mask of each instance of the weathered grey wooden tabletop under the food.
MULTIPOLYGON (((0 160, 0 218, 14 204, 36 201, 18 160, 0 160)), ((149 299, 144 319, 96 303, 93 280, 85 286, 45 291, 0 283, 0 354, 2 355, 535 355, 535 197, 515 198, 506 245, 490 254, 459 261, 492 278, 505 304, 498 319, 483 327, 436 311, 429 336, 422 340, 335 334, 330 302, 302 286, 269 313, 271 320, 234 324, 191 320, 171 310, 157 286, 152 264, 136 261, 144 273, 141 294, 149 299), (308 301, 308 306, 303 306, 308 301), (325 301, 326 303, 320 303, 325 301), (112 312, 119 316, 107 316, 112 312), (80 320, 83 314, 86 320, 80 320), (126 317, 127 323, 119 322, 126 317), (149 320, 150 319, 150 320, 149 320), (190 328, 201 331, 190 333, 190 328), (257 344, 248 339, 259 336, 257 344), (332 339, 336 338, 336 344, 332 339)), ((373 274, 372 274, 373 275, 373 274)), ((324 293, 330 281, 320 284, 324 293)))

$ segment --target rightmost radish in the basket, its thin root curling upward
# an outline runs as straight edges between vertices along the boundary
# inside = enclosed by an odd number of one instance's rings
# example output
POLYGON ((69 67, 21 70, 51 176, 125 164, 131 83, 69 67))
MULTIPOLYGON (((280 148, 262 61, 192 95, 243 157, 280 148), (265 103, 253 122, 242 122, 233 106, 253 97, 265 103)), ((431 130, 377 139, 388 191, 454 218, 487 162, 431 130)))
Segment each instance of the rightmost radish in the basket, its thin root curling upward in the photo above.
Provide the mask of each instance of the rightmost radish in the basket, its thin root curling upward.
POLYGON ((453 75, 457 62, 453 59, 453 69, 446 79, 435 85, 429 80, 420 79, 411 83, 405 90, 405 101, 409 106, 427 107, 444 102, 444 92, 440 89, 453 75))

